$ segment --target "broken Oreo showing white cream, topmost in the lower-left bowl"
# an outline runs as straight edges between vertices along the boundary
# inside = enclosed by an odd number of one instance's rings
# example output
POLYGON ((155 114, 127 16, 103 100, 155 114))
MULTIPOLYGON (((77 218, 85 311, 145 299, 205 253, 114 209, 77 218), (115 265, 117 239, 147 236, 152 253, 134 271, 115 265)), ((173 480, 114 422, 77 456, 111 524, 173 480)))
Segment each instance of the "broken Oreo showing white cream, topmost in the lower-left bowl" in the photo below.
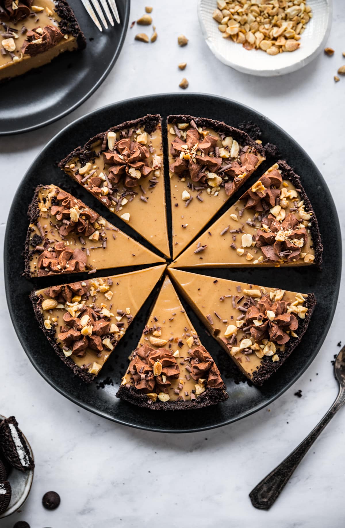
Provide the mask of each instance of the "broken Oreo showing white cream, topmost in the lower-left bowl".
POLYGON ((4 458, 14 468, 25 472, 35 467, 22 431, 18 429, 18 422, 14 416, 6 418, 0 423, 0 445, 4 458))

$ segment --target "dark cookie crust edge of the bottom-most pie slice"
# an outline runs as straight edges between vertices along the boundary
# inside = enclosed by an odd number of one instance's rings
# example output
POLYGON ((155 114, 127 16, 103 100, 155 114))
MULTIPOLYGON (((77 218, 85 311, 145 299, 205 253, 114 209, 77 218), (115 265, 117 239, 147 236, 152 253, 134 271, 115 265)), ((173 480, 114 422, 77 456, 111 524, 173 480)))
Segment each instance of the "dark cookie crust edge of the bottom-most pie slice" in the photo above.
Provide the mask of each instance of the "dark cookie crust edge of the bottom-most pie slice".
POLYGON ((225 384, 220 389, 208 388, 204 394, 196 398, 195 400, 185 401, 155 401, 151 404, 147 402, 147 395, 139 392, 132 385, 127 387, 121 385, 120 389, 116 393, 117 398, 121 398, 129 403, 134 403, 137 407, 145 407, 153 411, 184 411, 189 409, 203 409, 210 407, 215 403, 225 401, 229 398, 229 394, 226 392, 225 384))

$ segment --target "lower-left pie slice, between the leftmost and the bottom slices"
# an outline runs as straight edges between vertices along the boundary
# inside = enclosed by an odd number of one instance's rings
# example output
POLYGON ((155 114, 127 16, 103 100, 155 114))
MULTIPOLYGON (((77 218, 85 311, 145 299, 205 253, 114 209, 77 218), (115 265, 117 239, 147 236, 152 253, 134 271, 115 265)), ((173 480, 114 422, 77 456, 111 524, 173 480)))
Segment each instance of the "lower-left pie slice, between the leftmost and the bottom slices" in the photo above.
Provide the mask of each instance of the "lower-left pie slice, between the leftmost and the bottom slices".
POLYGON ((165 265, 33 291, 35 316, 57 355, 83 381, 101 371, 165 265))

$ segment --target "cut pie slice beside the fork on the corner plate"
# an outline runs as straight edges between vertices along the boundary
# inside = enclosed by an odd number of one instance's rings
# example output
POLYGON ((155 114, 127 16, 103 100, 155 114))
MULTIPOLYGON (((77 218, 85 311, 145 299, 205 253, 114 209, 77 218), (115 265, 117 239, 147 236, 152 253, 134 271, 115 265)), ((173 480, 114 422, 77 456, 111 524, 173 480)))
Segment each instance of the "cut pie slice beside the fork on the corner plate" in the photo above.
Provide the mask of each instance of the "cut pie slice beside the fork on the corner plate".
POLYGON ((65 0, 0 0, 0 33, 0 81, 86 45, 65 0))

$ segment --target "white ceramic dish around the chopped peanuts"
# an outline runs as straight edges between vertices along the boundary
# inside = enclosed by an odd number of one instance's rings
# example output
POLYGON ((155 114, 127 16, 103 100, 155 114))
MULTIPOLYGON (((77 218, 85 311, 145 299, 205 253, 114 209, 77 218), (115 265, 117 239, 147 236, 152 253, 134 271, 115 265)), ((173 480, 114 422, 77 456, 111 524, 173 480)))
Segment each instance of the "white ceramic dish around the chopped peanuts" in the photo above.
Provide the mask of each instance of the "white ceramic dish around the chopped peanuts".
POLYGON ((293 52, 268 55, 261 50, 245 50, 241 44, 223 39, 218 23, 212 18, 216 0, 198 0, 202 33, 216 58, 235 70, 260 77, 284 75, 303 68, 324 48, 332 24, 332 0, 308 0, 313 17, 301 36, 301 46, 293 52))

